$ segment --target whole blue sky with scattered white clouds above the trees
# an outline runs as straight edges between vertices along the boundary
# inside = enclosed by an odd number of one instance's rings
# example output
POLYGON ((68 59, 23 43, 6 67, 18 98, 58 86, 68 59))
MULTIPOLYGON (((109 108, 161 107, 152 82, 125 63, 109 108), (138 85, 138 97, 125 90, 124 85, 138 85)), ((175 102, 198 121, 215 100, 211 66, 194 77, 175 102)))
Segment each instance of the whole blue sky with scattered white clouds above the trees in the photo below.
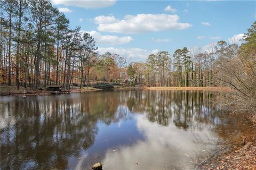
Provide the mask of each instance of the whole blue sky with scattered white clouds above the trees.
POLYGON ((52 0, 72 28, 81 25, 109 51, 133 61, 151 53, 237 41, 256 20, 256 1, 52 0))

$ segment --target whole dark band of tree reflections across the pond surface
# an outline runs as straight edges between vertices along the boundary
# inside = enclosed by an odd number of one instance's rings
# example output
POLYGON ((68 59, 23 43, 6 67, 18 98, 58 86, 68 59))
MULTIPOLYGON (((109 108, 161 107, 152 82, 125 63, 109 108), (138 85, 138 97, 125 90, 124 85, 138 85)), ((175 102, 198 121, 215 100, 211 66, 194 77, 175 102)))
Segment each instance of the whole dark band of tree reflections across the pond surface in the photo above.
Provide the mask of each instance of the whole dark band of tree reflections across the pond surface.
POLYGON ((227 138, 230 127, 237 128, 215 109, 212 98, 208 92, 134 90, 2 100, 1 169, 68 168, 69 156, 93 145, 97 122, 130 119, 127 109, 183 130, 203 130, 207 124, 227 138))

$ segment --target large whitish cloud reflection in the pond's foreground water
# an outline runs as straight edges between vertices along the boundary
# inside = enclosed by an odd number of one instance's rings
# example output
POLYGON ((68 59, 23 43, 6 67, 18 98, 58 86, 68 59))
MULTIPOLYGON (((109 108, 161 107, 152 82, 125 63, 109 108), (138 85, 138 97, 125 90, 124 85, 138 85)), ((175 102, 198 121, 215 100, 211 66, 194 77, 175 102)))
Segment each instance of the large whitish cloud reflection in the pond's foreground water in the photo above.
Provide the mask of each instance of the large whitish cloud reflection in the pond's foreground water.
POLYGON ((145 115, 135 116, 137 128, 145 135, 145 141, 132 146, 108 150, 102 160, 105 169, 191 169, 202 150, 210 151, 213 146, 205 145, 216 140, 209 126, 202 130, 178 129, 174 124, 158 125, 147 120, 145 115), (138 162, 139 164, 135 164, 138 162))

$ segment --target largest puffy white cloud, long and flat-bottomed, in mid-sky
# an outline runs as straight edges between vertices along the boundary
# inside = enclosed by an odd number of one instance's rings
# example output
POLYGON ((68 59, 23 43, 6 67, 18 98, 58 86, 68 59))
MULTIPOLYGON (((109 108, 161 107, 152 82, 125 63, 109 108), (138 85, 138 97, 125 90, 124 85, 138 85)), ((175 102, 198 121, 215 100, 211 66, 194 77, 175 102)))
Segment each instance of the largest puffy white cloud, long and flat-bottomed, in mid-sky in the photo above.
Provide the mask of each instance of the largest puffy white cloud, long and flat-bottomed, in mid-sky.
POLYGON ((179 19, 180 17, 176 14, 126 15, 123 20, 118 20, 114 16, 101 15, 94 18, 94 22, 99 24, 97 27, 99 31, 118 33, 142 33, 191 27, 191 24, 181 23, 179 19))

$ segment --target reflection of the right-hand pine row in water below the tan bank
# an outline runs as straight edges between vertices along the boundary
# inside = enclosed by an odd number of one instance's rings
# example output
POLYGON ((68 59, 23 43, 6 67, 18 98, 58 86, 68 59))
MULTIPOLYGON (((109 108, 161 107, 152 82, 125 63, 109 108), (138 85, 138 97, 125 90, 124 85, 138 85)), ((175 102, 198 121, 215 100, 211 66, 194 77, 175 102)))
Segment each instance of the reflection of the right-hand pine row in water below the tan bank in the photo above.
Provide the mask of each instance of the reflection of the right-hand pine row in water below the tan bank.
MULTIPOLYGON (((244 115, 229 115, 225 108, 219 107, 221 94, 199 91, 132 91, 126 97, 131 112, 145 113, 148 120, 168 126, 173 123, 183 130, 193 130, 195 141, 202 137, 196 131, 203 131, 207 125, 223 141, 237 143, 241 134, 251 136, 251 123, 244 124, 244 115)), ((209 134, 208 142, 214 143, 209 134)), ((205 142, 205 141, 204 141, 205 142)))

